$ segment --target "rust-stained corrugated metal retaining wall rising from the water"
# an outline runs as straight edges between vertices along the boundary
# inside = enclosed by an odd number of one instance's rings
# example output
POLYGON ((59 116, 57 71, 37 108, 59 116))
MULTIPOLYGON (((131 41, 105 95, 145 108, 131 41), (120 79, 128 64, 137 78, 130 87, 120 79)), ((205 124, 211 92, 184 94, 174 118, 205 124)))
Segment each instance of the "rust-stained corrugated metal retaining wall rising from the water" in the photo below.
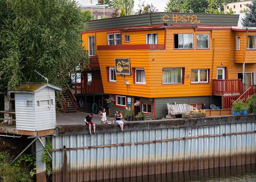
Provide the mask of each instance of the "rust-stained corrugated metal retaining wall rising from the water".
POLYGON ((202 128, 165 128, 97 135, 53 136, 53 149, 132 145, 53 151, 53 181, 91 181, 256 163, 256 133, 136 142, 255 131, 256 123, 202 128))

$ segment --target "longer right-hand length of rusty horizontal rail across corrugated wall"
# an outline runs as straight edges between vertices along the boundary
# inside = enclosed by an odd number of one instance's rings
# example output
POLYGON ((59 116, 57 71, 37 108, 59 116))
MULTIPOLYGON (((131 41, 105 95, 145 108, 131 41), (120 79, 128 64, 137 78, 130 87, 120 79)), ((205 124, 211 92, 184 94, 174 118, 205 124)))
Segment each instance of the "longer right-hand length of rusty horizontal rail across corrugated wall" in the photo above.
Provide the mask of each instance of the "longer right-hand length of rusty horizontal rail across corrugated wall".
POLYGON ((204 137, 221 137, 226 135, 240 135, 240 134, 249 134, 255 133, 256 131, 244 131, 244 132, 236 132, 236 133, 223 133, 223 134, 216 134, 216 135, 200 135, 194 137, 183 137, 183 138, 172 138, 172 139, 165 139, 165 140, 155 140, 155 141, 148 141, 148 142, 136 142, 134 145, 141 145, 146 143, 158 143, 158 142, 169 142, 169 141, 177 141, 177 140, 186 140, 186 139, 193 139, 193 138, 204 138, 204 137))

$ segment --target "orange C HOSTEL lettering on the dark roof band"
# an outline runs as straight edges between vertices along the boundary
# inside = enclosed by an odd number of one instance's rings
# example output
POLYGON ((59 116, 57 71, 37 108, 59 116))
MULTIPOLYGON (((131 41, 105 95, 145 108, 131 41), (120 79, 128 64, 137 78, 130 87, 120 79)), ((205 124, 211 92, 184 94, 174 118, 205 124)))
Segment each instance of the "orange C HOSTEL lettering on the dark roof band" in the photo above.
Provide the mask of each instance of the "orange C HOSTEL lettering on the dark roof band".
POLYGON ((178 21, 181 21, 182 23, 185 23, 185 22, 189 22, 194 24, 194 23, 201 23, 200 20, 197 20, 197 16, 196 15, 174 15, 172 16, 172 18, 170 19, 170 16, 168 15, 164 15, 162 17, 163 21, 165 21, 165 23, 167 21, 174 21, 175 23, 177 23, 178 21))

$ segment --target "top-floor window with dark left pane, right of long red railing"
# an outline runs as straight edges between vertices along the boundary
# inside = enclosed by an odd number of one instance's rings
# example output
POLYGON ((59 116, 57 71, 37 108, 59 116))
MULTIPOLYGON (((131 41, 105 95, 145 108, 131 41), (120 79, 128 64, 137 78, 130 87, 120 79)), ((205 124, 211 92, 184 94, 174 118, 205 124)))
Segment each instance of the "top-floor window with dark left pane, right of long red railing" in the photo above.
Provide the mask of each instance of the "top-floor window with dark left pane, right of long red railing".
POLYGON ((193 34, 174 34, 175 49, 191 49, 193 48, 193 34))

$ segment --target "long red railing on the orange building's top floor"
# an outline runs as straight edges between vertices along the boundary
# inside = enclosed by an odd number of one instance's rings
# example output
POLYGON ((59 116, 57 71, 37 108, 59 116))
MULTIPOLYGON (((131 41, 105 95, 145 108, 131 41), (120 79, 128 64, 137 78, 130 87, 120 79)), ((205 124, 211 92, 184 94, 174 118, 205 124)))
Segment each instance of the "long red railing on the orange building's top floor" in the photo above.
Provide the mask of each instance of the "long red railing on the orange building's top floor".
POLYGON ((165 44, 126 44, 97 46, 101 50, 164 50, 165 44))

